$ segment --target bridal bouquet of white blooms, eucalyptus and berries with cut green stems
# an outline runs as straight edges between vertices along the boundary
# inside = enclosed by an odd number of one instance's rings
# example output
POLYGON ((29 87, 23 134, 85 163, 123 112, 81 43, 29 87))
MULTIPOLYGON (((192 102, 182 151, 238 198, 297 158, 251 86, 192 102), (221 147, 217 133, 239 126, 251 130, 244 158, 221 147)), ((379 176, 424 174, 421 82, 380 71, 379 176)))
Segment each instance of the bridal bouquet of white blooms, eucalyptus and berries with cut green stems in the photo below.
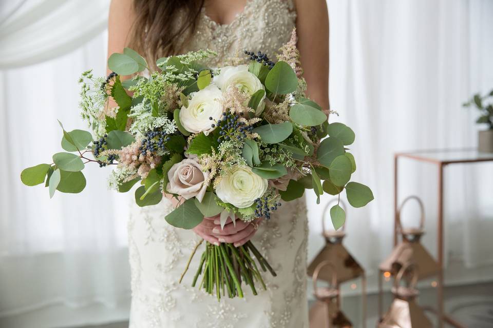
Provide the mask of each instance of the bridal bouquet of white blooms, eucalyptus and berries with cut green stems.
MULTIPOLYGON (((56 190, 79 193, 87 163, 113 166, 109 187, 127 192, 139 183, 139 206, 159 203, 163 193, 174 195, 179 205, 166 221, 183 229, 204 216, 219 215, 222 227, 228 218, 270 219, 282 201, 301 197, 305 189, 314 190, 317 202, 324 192, 346 190, 353 207, 365 206, 371 190, 349 182, 356 164, 347 146, 355 135, 344 124, 328 124, 305 97, 295 40, 293 32, 276 63, 245 51, 230 66, 210 68, 201 63, 215 54, 202 50, 160 58, 147 77, 136 75, 150 69, 134 50, 112 54, 113 73, 94 77, 87 71, 80 80, 82 118, 92 133, 67 132, 60 124, 65 152, 54 154, 51 164, 25 169, 22 181, 45 183, 50 197, 56 190), (109 98, 118 106, 109 108, 109 98)), ((330 214, 336 229, 344 224, 340 206, 330 214)), ((226 293, 242 297, 241 281, 257 294, 255 282, 266 288, 261 271, 276 275, 252 242, 206 242, 192 285, 202 275, 200 288, 218 299, 226 293)))

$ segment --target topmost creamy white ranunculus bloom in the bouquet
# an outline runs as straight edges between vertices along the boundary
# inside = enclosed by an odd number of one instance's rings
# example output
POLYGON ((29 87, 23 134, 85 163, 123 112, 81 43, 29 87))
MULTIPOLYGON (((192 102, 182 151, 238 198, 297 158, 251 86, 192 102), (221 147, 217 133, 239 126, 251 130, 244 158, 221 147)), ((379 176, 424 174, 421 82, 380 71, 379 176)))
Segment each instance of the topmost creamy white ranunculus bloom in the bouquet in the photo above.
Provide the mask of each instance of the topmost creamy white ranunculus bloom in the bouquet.
MULTIPOLYGON (((214 83, 223 92, 232 86, 238 88, 241 92, 248 92, 250 95, 253 95, 258 90, 265 90, 258 77, 248 71, 247 65, 225 66, 221 68, 219 75, 214 77, 214 83)), ((258 107, 254 108, 256 115, 259 115, 265 107, 265 97, 264 95, 258 107)), ((248 103, 244 105, 247 106, 248 103)))

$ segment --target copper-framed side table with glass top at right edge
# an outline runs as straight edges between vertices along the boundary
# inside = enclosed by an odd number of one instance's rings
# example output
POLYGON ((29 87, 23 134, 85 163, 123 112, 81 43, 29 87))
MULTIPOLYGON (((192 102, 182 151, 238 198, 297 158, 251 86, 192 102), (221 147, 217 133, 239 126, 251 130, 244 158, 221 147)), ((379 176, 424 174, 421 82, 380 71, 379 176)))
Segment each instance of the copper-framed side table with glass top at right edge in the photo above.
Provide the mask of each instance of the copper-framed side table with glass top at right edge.
POLYGON ((444 313, 443 310, 443 172, 447 165, 458 163, 477 163, 493 161, 493 153, 480 153, 476 149, 442 149, 416 151, 409 153, 397 153, 394 155, 394 246, 397 244, 397 192, 399 191, 399 158, 408 158, 422 162, 428 162, 438 167, 438 216, 437 216, 437 241, 438 254, 437 262, 441 270, 437 277, 437 309, 427 309, 435 312, 438 316, 439 327, 443 327, 443 321, 456 327, 463 327, 462 324, 453 320, 444 313))

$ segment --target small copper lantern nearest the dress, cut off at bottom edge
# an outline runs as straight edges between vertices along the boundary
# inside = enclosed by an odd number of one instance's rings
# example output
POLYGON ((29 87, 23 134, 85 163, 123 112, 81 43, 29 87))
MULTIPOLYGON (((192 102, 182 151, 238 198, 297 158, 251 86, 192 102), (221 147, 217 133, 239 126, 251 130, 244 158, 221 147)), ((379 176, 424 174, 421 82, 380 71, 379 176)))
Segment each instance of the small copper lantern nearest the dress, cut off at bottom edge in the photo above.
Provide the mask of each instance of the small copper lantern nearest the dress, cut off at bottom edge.
POLYGON ((352 328, 352 323, 340 311, 339 289, 337 288, 337 274, 335 265, 329 261, 320 262, 313 273, 313 295, 317 302, 310 310, 310 316, 315 311, 316 317, 310 318, 311 327, 320 328, 352 328), (329 268, 331 270, 324 270, 329 268), (324 272, 327 276, 332 273, 330 285, 327 287, 317 287, 317 280, 320 273, 324 272))

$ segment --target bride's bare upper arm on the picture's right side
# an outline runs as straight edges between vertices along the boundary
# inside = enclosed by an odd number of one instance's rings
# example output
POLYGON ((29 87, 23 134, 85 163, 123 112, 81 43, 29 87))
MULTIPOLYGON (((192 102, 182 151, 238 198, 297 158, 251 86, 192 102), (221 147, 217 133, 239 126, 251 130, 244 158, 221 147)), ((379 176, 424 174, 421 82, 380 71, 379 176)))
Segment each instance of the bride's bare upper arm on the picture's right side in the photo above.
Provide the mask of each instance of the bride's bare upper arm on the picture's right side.
POLYGON ((307 95, 324 110, 329 105, 329 13, 325 0, 295 0, 296 30, 307 95))

